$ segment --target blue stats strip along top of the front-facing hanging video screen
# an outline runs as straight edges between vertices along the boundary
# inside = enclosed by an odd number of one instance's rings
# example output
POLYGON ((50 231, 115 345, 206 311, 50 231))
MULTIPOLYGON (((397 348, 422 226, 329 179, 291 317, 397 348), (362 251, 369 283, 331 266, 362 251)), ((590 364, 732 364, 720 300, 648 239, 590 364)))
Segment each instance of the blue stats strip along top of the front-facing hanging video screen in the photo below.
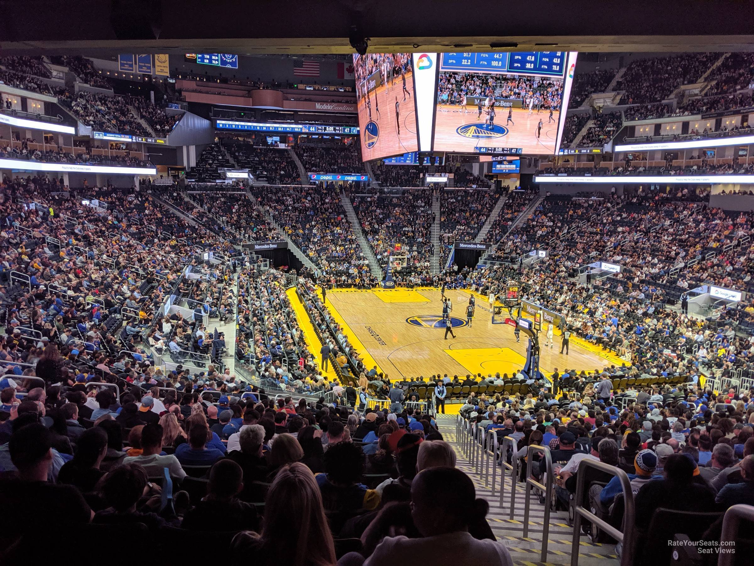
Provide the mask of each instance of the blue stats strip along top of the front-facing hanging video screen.
POLYGON ((514 73, 562 77, 565 51, 523 51, 517 53, 443 53, 440 71, 514 73))

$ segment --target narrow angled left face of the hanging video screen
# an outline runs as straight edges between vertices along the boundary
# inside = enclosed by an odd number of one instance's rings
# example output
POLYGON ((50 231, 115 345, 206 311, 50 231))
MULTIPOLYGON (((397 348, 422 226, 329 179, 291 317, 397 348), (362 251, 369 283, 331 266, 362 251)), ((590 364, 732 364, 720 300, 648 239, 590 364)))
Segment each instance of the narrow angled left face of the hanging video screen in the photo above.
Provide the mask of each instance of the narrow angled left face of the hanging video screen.
POLYGON ((418 150, 410 53, 354 55, 364 161, 418 150))

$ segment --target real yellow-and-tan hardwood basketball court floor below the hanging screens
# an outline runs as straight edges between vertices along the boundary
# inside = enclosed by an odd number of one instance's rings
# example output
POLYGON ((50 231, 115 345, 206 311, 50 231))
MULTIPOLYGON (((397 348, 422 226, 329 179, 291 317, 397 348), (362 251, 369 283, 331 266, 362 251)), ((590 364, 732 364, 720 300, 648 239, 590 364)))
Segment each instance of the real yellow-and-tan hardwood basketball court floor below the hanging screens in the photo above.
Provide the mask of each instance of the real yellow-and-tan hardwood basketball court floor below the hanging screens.
MULTIPOLYGON (((452 300, 452 317, 463 326, 453 329, 455 339, 444 340, 445 329, 434 328, 442 318, 440 290, 417 288, 363 291, 333 289, 327 292, 327 306, 345 327, 345 334, 364 363, 391 379, 429 377, 432 374, 511 374, 526 363, 526 336, 516 343, 509 325, 492 325, 489 303, 477 295, 477 309, 471 327, 466 326, 469 291, 446 291, 452 300)), ((544 334, 540 334, 544 346, 544 334)), ((560 354, 556 336, 554 348, 542 348, 540 368, 545 373, 559 368, 602 369, 621 360, 587 343, 572 338, 569 355, 560 354)))

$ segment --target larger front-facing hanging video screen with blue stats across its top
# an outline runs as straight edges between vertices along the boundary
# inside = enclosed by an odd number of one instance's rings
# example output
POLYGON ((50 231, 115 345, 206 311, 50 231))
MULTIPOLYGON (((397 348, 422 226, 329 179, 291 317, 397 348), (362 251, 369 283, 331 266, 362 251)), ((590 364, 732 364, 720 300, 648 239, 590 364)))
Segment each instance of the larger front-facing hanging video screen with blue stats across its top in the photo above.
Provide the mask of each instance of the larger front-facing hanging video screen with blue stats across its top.
POLYGON ((556 153, 572 55, 569 61, 567 51, 437 54, 433 151, 504 146, 524 155, 556 153))

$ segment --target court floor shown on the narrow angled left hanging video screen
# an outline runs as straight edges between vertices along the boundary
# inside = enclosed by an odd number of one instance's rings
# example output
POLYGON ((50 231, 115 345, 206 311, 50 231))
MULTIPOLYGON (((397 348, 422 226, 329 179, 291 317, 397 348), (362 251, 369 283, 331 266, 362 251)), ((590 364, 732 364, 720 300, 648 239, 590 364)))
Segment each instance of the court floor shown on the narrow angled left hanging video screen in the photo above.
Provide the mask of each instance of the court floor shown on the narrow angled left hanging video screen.
MULTIPOLYGON (((377 142, 371 148, 364 145, 364 136, 361 138, 361 154, 364 161, 385 157, 388 155, 398 155, 399 153, 415 152, 418 150, 418 140, 416 139, 416 112, 414 106, 414 78, 412 72, 406 73, 406 90, 411 97, 406 94, 406 101, 403 101, 403 80, 396 78, 393 85, 388 82, 388 86, 380 86, 376 91, 369 93, 369 99, 372 100, 372 121, 376 122, 379 127, 379 137, 377 142), (375 101, 376 97, 376 101, 375 101), (398 98, 400 105, 400 135, 395 120, 395 98, 398 98), (377 108, 379 107, 379 115, 377 108)), ((359 124, 362 126, 369 122, 369 110, 366 108, 366 99, 358 103, 359 124)))

